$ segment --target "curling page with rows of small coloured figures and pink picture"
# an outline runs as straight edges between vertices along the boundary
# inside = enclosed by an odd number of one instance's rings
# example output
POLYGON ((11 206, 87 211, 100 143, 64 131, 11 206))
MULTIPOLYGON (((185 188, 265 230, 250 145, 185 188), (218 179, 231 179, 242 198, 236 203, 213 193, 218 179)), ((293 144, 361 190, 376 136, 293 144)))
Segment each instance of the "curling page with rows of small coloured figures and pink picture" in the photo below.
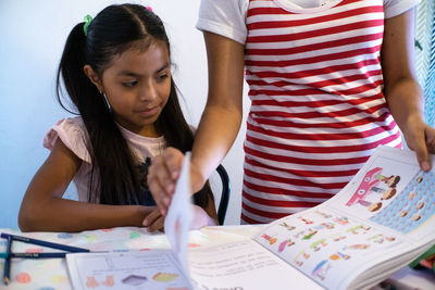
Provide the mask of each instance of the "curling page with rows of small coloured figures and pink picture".
POLYGON ((412 152, 382 147, 336 197, 270 224, 254 240, 330 289, 370 268, 380 279, 434 243, 434 181, 412 152))

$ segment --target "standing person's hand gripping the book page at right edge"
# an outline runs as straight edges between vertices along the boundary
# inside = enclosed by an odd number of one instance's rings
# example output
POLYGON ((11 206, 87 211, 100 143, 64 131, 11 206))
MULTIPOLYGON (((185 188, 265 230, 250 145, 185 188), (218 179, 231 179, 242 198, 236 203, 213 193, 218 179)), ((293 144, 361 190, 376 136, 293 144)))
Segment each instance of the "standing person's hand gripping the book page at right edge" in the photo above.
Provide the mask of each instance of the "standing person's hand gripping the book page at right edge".
POLYGON ((409 149, 417 154, 420 168, 427 172, 432 168, 428 154, 435 153, 435 129, 424 123, 420 115, 410 116, 403 130, 409 149))

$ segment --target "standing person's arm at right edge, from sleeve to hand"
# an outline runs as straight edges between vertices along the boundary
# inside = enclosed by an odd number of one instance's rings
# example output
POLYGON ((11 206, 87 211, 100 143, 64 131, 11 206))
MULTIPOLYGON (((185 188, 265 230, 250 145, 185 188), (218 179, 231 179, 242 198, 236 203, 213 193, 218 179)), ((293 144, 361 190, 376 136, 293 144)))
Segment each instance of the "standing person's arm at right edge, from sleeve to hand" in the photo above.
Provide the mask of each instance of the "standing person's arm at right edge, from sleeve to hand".
POLYGON ((423 93, 414 74, 414 11, 385 21, 382 47, 385 97, 407 144, 417 153, 420 167, 431 168, 435 129, 423 118, 423 93))

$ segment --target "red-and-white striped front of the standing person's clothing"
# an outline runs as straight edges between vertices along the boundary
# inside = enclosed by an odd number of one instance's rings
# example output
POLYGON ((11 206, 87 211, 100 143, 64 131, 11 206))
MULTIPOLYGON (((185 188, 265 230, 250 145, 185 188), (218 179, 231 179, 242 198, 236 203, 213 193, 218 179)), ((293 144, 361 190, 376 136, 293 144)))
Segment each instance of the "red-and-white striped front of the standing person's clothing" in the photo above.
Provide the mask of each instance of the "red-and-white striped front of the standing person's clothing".
POLYGON ((383 93, 383 0, 294 9, 251 0, 243 223, 270 223, 338 192, 380 144, 401 147, 383 93))

